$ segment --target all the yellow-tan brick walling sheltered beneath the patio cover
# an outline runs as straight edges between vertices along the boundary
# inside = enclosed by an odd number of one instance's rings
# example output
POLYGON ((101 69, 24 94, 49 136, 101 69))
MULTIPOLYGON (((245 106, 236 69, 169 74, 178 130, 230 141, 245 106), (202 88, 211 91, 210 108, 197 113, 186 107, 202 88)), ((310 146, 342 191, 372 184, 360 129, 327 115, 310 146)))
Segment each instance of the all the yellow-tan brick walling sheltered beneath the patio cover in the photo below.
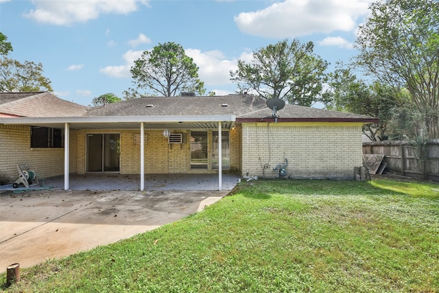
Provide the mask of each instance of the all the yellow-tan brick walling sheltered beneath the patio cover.
MULTIPOLYGON (((205 173, 217 170, 191 170, 190 132, 183 134, 184 143, 169 144, 163 130, 145 130, 145 174, 205 173)), ((140 174, 139 130, 70 130, 69 172, 86 172, 86 136, 91 133, 119 133, 120 173, 140 174)), ((211 141, 211 135, 209 134, 211 141)), ((209 148, 211 150, 211 148, 209 148)), ((11 183, 18 176, 16 164, 27 163, 40 176, 62 176, 64 174, 64 148, 30 148, 29 126, 0 125, 0 175, 11 183)), ((209 162, 209 167, 211 166, 209 162)), ((241 127, 230 130, 230 170, 241 168, 241 127)))

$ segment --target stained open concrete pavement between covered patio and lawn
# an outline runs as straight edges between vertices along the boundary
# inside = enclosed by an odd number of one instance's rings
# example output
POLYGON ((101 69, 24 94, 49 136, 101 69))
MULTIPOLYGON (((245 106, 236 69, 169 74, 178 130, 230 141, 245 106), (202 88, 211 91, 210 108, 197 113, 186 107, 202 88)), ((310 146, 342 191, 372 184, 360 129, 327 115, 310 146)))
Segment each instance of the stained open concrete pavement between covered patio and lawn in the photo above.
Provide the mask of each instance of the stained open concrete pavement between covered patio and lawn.
MULTIPOLYGON (((167 182, 158 180, 151 184, 163 183, 167 182)), ((191 183, 191 186, 203 185, 204 181, 191 183)), ((97 183, 94 186, 99 187, 97 183)), ((166 185, 169 186, 176 185, 166 185)), ((185 218, 229 192, 51 189, 14 194, 3 189, 0 194, 0 268, 5 269, 12 263, 26 268, 117 242, 185 218)))

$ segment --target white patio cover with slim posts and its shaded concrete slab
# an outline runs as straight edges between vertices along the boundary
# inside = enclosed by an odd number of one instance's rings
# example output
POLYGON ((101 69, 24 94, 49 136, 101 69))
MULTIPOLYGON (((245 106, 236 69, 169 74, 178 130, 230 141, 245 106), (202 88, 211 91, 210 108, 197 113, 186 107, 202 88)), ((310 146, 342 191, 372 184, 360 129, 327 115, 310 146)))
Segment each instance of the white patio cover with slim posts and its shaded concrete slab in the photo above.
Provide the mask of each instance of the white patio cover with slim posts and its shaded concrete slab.
MULTIPOLYGON (((217 130, 233 128, 235 115, 181 115, 181 116, 95 116, 95 117, 19 117, 0 119, 0 123, 11 125, 62 128, 64 130, 64 176, 51 178, 45 186, 64 190, 231 190, 238 175, 224 174, 222 160, 218 162, 217 174, 145 174, 145 130, 217 130), (137 130, 140 152, 139 174, 88 173, 71 174, 70 142, 71 130, 137 130)), ((165 135, 165 134, 164 134, 165 135)), ((222 145, 219 135, 218 145, 222 145)), ((222 148, 219 148, 219 158, 222 148)))

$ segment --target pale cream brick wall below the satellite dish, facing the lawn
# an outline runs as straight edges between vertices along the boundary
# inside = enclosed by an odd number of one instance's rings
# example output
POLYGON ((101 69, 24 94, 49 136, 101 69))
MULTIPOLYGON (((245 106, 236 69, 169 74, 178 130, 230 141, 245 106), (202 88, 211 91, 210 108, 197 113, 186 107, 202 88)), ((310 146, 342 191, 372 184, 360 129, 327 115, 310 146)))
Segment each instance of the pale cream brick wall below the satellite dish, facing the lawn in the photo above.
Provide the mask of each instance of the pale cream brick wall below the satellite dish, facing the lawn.
POLYGON ((353 179, 362 165, 361 124, 243 124, 242 175, 353 179))

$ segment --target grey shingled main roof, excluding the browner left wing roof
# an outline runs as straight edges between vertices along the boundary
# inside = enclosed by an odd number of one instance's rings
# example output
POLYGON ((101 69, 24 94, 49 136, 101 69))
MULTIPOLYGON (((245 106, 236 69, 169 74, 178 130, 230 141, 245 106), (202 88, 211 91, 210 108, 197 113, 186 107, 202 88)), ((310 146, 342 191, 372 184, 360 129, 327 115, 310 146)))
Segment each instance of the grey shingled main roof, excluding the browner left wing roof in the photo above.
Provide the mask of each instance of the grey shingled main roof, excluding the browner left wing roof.
MULTIPOLYGON (((253 95, 140 97, 88 110, 87 116, 147 115, 236 115, 238 121, 270 121, 267 100, 253 95)), ((286 104, 277 112, 278 121, 361 121, 373 117, 286 104)))

